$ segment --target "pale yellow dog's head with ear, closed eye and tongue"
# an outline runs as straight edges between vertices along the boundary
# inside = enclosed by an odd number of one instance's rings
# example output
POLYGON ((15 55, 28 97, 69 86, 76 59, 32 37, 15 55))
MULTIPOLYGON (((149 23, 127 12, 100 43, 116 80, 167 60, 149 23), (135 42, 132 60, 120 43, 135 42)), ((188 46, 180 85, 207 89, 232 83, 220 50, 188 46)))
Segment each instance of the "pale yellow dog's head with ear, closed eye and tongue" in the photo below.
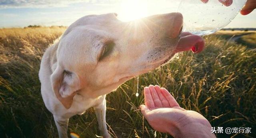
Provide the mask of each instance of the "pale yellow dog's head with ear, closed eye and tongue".
POLYGON ((166 63, 177 52, 202 51, 203 39, 181 33, 182 24, 180 13, 131 22, 118 20, 116 14, 78 19, 58 45, 58 65, 51 76, 56 96, 68 109, 76 93, 98 97, 166 63))

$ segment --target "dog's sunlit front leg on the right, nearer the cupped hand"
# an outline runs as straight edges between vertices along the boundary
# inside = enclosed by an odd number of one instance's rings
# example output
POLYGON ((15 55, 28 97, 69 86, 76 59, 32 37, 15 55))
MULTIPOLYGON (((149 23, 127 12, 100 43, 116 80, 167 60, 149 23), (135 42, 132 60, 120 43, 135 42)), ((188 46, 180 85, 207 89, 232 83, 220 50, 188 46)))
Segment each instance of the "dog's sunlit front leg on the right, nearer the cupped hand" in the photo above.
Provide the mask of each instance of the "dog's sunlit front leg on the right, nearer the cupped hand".
POLYGON ((101 102, 94 106, 94 111, 98 120, 98 125, 100 132, 102 133, 104 138, 110 138, 110 134, 108 134, 108 129, 106 125, 106 95, 103 95, 101 99, 99 99, 101 102))

